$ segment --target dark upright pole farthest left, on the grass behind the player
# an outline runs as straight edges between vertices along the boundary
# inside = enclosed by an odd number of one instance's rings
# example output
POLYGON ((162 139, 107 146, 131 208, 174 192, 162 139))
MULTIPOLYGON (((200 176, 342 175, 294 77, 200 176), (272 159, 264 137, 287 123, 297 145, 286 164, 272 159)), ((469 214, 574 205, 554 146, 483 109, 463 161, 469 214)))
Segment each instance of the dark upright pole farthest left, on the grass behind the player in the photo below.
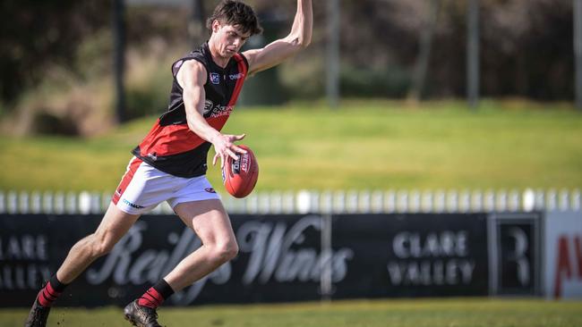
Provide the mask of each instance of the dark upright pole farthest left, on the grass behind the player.
POLYGON ((114 42, 114 83, 116 94, 116 120, 124 122, 125 116, 125 5, 124 0, 114 0, 113 3, 113 42, 114 42))

